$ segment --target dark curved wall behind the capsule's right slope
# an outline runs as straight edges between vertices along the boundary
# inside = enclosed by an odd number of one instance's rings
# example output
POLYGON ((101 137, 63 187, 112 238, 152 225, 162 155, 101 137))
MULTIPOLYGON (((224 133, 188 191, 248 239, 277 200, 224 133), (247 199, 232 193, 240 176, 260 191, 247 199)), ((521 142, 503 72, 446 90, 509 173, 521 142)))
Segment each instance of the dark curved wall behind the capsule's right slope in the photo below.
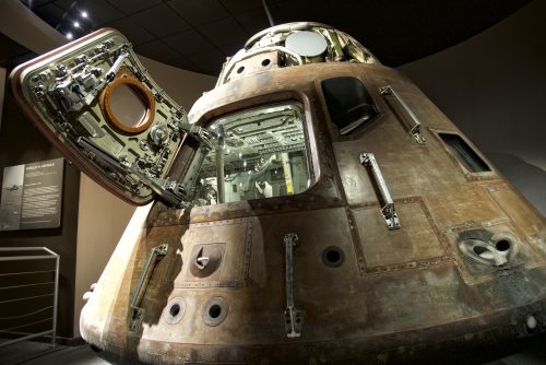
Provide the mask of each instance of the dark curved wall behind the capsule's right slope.
POLYGON ((399 70, 546 215, 546 1, 399 70))

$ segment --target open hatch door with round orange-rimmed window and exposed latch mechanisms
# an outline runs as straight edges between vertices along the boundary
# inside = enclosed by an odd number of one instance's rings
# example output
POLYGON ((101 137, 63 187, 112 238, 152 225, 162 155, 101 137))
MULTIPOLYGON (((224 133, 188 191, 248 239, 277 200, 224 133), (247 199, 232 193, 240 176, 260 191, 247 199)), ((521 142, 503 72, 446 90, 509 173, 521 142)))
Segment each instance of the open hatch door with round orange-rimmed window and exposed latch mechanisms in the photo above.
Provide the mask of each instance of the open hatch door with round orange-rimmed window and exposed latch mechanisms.
POLYGON ((138 205, 155 195, 174 208, 191 200, 206 130, 188 123, 120 33, 92 33, 19 66, 10 78, 41 132, 104 188, 138 205), (193 146, 193 161, 173 176, 185 143, 193 146))

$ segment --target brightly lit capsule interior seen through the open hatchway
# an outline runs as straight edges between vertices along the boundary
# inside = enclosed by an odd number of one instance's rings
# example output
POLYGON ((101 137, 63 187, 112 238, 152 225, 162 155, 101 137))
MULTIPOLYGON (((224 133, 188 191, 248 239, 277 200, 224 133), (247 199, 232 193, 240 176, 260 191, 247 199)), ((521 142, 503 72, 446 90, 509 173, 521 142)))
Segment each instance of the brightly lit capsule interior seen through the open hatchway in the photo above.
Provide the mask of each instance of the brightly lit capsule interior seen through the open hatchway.
POLYGON ((304 109, 265 106, 212 121, 215 148, 198 177, 197 205, 292 196, 310 186, 304 109))

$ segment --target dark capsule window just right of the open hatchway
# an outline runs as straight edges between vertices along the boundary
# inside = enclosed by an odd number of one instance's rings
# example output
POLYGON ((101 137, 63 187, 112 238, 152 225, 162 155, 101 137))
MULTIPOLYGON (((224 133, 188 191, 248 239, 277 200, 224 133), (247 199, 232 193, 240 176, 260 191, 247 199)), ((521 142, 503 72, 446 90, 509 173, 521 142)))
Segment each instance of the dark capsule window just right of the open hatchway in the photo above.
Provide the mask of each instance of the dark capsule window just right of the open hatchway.
POLYGON ((379 114, 370 93, 356 78, 328 79, 321 85, 330 119, 341 134, 366 125, 379 114))

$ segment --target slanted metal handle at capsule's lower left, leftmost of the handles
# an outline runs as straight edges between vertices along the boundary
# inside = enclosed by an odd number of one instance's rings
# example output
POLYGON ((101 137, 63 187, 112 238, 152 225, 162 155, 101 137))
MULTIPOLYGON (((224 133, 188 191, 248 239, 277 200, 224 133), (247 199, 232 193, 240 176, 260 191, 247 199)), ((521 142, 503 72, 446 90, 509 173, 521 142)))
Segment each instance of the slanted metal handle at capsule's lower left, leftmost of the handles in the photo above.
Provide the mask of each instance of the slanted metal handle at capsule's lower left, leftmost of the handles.
POLYGON ((168 244, 155 246, 150 250, 146 263, 144 263, 144 268, 142 268, 139 283, 136 284, 134 293, 131 297, 131 319, 129 321, 129 331, 131 332, 136 332, 139 326, 142 323, 142 319, 144 318, 144 309, 140 307, 142 298, 146 292, 147 283, 152 279, 155 266, 165 257, 165 255, 167 255, 167 250, 168 244))

